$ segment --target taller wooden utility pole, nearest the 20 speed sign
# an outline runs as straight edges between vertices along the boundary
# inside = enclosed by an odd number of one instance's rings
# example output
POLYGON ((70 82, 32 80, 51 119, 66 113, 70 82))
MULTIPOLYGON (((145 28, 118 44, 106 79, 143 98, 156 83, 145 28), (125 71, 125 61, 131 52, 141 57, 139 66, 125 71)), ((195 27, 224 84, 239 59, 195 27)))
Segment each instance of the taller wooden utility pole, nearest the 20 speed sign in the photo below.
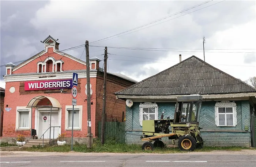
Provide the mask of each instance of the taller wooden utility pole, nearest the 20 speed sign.
POLYGON ((91 94, 90 94, 90 60, 89 60, 89 41, 85 41, 86 50, 86 79, 87 79, 87 147, 93 145, 93 134, 91 134, 91 94))

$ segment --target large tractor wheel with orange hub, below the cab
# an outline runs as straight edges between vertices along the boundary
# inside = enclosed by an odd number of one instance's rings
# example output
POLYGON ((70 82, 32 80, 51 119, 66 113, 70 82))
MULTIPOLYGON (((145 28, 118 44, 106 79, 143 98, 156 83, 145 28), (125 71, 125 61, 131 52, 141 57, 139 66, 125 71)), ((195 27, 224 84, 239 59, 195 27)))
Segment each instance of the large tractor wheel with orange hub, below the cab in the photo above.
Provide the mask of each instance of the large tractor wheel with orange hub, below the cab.
POLYGON ((190 135, 184 135, 178 140, 178 147, 181 151, 194 151, 196 148, 196 139, 190 135))

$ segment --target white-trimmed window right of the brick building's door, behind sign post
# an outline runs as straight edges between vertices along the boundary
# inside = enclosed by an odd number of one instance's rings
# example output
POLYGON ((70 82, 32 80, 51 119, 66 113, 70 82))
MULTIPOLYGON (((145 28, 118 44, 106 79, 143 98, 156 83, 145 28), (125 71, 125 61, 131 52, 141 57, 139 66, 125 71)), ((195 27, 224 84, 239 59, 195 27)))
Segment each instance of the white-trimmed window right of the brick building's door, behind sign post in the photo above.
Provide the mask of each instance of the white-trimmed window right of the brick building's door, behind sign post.
MULTIPOLYGON (((72 111, 73 106, 66 106, 65 130, 72 130, 72 111)), ((83 106, 74 106, 74 126, 73 129, 80 131, 82 129, 82 111, 83 106)))

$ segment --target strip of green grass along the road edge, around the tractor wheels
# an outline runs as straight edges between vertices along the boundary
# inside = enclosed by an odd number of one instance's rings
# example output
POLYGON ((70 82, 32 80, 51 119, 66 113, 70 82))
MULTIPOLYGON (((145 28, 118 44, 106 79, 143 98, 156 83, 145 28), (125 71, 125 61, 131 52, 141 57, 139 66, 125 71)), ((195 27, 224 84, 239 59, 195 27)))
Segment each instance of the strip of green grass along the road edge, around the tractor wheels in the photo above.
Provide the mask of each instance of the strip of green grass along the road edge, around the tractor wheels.
MULTIPOLYGON (((196 149, 195 151, 214 151, 214 150, 226 150, 226 151, 240 151, 242 149, 254 149, 248 147, 204 147, 202 149, 196 149)), ((256 149, 254 149, 256 150, 256 149)), ((24 151, 37 151, 37 152, 69 152, 71 151, 70 145, 64 146, 37 146, 25 148, 24 151)), ((155 148, 154 151, 143 151, 141 145, 137 144, 125 144, 125 143, 117 143, 115 140, 106 139, 105 144, 101 145, 99 140, 94 140, 93 147, 87 148, 86 144, 74 144, 73 151, 75 152, 111 152, 111 153, 177 153, 184 152, 180 151, 178 148, 155 148)))

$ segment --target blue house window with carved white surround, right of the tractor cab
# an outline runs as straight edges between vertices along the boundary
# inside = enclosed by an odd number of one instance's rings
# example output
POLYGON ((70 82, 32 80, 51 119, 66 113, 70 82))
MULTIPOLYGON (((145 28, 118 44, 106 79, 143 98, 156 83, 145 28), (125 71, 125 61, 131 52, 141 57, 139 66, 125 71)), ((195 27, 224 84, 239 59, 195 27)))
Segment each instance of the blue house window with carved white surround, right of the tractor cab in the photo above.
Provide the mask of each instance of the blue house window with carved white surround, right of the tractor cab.
POLYGON ((216 126, 236 126, 237 111, 236 103, 229 101, 217 102, 215 104, 215 125, 216 126))

